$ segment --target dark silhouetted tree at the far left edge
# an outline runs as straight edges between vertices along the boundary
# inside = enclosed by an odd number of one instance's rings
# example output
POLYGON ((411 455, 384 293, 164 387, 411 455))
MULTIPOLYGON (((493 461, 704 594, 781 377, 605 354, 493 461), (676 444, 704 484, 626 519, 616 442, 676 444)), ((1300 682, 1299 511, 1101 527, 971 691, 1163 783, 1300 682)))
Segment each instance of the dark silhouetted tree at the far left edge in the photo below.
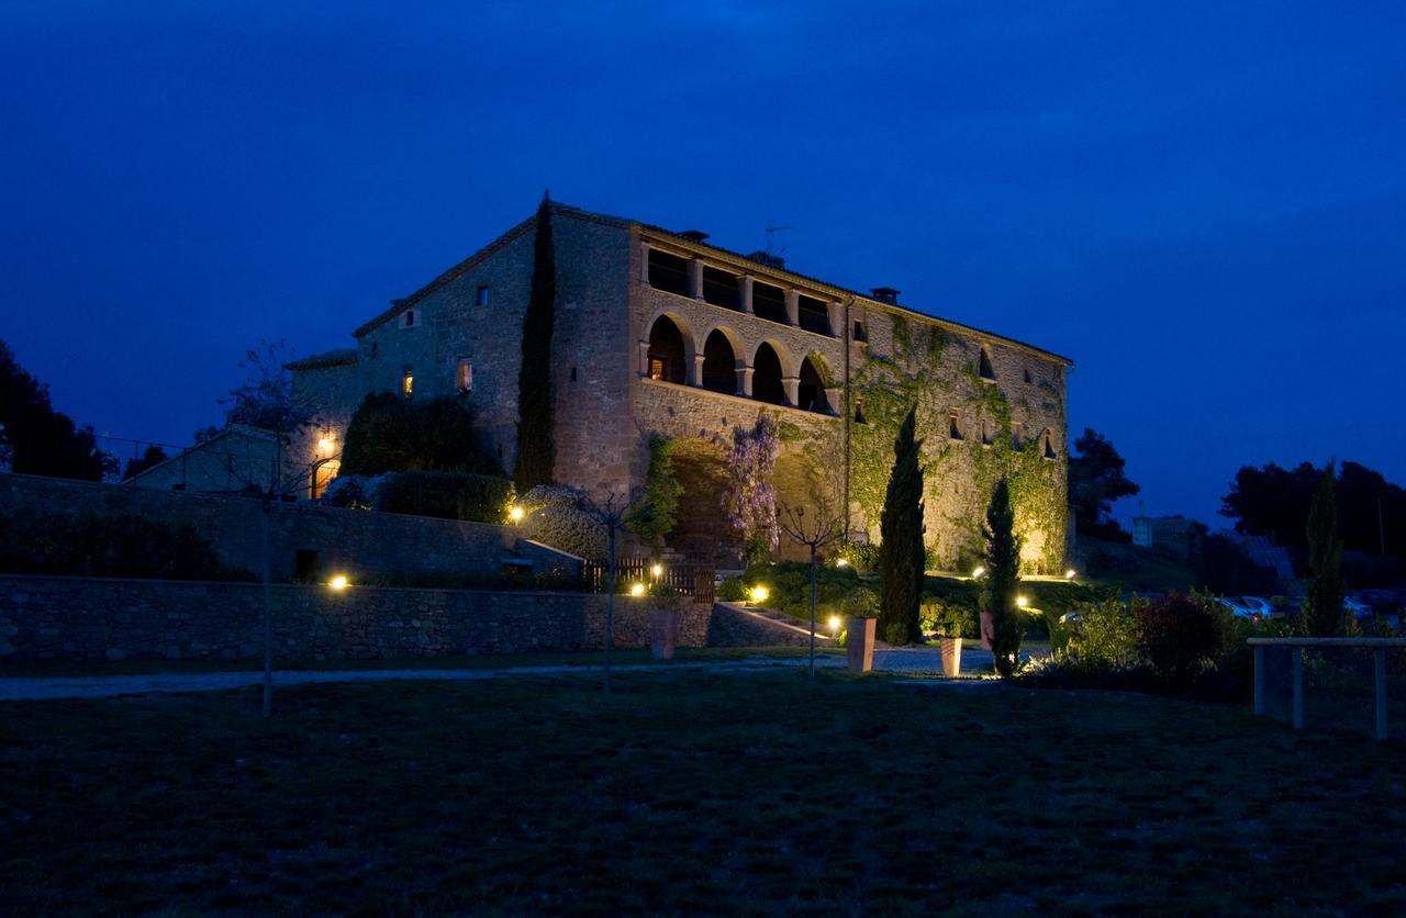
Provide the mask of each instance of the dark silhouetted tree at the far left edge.
POLYGON ((18 474, 101 481, 115 465, 98 448, 93 427, 79 427, 67 415, 53 410, 48 387, 20 367, 4 342, 0 342, 0 429, 10 471, 18 474))

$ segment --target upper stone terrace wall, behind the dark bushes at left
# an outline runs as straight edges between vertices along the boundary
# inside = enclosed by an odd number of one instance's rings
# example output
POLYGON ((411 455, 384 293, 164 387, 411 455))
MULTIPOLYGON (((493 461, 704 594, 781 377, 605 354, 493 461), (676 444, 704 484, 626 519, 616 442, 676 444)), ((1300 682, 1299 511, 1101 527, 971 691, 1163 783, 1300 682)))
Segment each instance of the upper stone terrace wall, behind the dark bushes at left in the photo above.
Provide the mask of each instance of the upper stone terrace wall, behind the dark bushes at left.
MULTIPOLYGON (((0 475, 0 513, 35 509, 58 513, 132 513, 190 523, 221 560, 257 572, 263 557, 263 503, 254 498, 150 491, 34 475, 0 475)), ((367 575, 495 576, 508 557, 540 569, 574 568, 579 560, 519 538, 510 526, 439 520, 311 503, 271 505, 273 579, 294 576, 298 552, 316 552, 315 568, 367 575)))

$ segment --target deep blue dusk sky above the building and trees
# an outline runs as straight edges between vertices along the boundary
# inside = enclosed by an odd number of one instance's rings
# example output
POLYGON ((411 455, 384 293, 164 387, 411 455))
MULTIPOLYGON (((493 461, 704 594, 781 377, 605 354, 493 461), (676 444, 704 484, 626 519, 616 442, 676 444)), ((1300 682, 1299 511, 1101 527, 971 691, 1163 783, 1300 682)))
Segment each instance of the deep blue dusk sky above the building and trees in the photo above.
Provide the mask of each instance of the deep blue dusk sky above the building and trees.
MULTIPOLYGON (((1154 513, 1406 481, 1406 4, 0 4, 0 337, 186 443, 557 200, 1078 363, 1154 513)), ((1132 505, 1125 508, 1130 512, 1132 505)))

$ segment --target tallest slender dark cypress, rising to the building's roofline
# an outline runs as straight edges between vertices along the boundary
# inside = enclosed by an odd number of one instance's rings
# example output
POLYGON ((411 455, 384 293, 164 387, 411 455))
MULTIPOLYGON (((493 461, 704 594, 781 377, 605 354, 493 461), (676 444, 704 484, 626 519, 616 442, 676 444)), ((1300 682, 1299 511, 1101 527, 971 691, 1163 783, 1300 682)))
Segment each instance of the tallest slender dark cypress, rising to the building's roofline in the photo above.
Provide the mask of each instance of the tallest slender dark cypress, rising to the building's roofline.
POLYGON ((557 322, 557 256, 551 240, 551 197, 537 207, 531 292, 523 316, 523 360, 517 371, 519 493, 551 484, 557 464, 553 440, 551 335, 557 322))

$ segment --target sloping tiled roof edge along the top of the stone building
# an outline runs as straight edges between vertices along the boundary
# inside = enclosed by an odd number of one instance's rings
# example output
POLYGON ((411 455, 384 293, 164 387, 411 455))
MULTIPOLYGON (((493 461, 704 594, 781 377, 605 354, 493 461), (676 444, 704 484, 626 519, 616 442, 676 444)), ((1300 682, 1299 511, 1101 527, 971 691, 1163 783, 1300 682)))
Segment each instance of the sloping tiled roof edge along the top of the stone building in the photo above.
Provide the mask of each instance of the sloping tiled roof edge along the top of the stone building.
MULTIPOLYGON (((979 328, 972 326, 972 325, 965 325, 962 322, 953 322, 950 319, 943 319, 941 316, 935 316, 932 313, 914 309, 911 306, 903 306, 903 305, 897 305, 897 304, 891 304, 891 302, 884 302, 882 299, 875 298, 870 294, 863 294, 863 292, 859 292, 856 290, 851 290, 848 287, 841 287, 838 284, 831 284, 830 281, 823 281, 823 280, 820 280, 817 277, 810 277, 807 274, 801 274, 799 271, 793 271, 793 270, 786 269, 786 267, 775 267, 772 264, 765 264, 765 263, 762 263, 762 261, 759 261, 756 259, 752 259, 752 257, 749 257, 747 254, 742 254, 740 252, 733 252, 731 249, 723 249, 723 247, 714 246, 714 245, 711 245, 709 242, 703 242, 702 239, 699 239, 700 233, 697 233, 697 231, 673 232, 671 229, 665 229, 665 228, 657 226, 654 224, 644 224, 644 222, 640 222, 640 221, 627 219, 627 218, 623 218, 623 216, 612 216, 612 215, 607 215, 607 214, 595 214, 592 211, 583 211, 581 208, 571 207, 568 204, 560 204, 560 202, 553 202, 551 211, 553 211, 553 215, 555 215, 555 216, 567 216, 567 218, 579 219, 579 221, 583 221, 583 222, 602 224, 602 225, 606 225, 606 226, 617 226, 620 229, 633 229, 636 232, 643 232, 643 233, 645 233, 648 236, 654 236, 654 238, 666 238, 666 240, 675 243, 679 249, 685 249, 685 250, 690 250, 690 252, 707 253, 709 256, 711 256, 713 260, 716 260, 718 263, 731 264, 735 269, 756 271, 759 276, 770 276, 770 277, 775 277, 775 278, 779 278, 779 280, 790 280, 797 287, 808 287, 808 288, 811 288, 811 290, 814 290, 817 292, 823 291, 823 292, 828 292, 831 295, 849 297, 849 298, 853 298, 855 302, 858 302, 858 304, 860 304, 860 305, 863 305, 866 308, 870 308, 870 309, 884 311, 884 312, 897 312, 897 313, 901 313, 901 315, 914 316, 914 318, 918 318, 918 319, 922 319, 922 321, 927 321, 927 322, 934 322, 934 323, 936 323, 939 326, 943 326, 943 328, 948 328, 948 329, 950 329, 953 332, 966 333, 966 335, 976 335, 979 337, 987 337, 987 339, 991 339, 994 342, 1000 342, 1000 343, 1004 343, 1004 344, 1011 344, 1011 346, 1019 347, 1021 350, 1032 351, 1032 353, 1036 353, 1039 356, 1053 358, 1053 360, 1056 360, 1056 361, 1059 361, 1059 363, 1062 363, 1062 364, 1064 364, 1067 367, 1074 366, 1074 361, 1070 360, 1069 357, 1064 357, 1063 354, 1056 354, 1054 351, 1046 350, 1043 347, 1036 347, 1035 344, 1028 344, 1028 343, 1025 343, 1022 340, 1018 340, 1018 339, 1014 339, 1014 337, 1007 337, 1005 335, 997 335, 995 332, 988 332, 986 329, 979 329, 979 328)), ((443 274, 440 274, 439 277, 436 277, 434 280, 432 280, 429 284, 425 284, 423 287, 420 287, 419 290, 416 290, 411 295, 404 297, 401 299, 392 299, 389 309, 382 311, 374 319, 371 319, 370 322, 366 322, 364 325, 361 325, 360 328, 357 328, 354 332, 352 332, 352 335, 356 336, 356 337, 361 337, 363 335, 366 335, 371 329, 377 328, 378 325, 381 325, 381 323, 384 323, 384 322, 387 322, 387 321, 398 316, 401 312, 404 312, 409 306, 415 305, 416 302, 419 302, 425 297, 433 294, 434 291, 437 291, 441 287, 444 287, 446 284, 457 280, 458 277, 461 277, 463 274, 465 274, 467 271, 470 271, 475 266, 481 264, 484 260, 486 260, 489 256, 492 256, 494 253, 499 252, 501 249, 503 249, 509 243, 512 243, 516 239, 519 239, 520 236, 524 236, 526 233, 531 232, 531 228, 533 228, 534 222, 536 222, 536 215, 529 216, 527 219, 522 221, 520 224, 517 224, 516 226, 513 226, 512 229, 509 229, 508 232, 505 232, 502 236, 499 236, 498 239, 492 240, 491 243, 488 243, 486 246, 484 246, 482 249, 479 249, 474 254, 468 256, 467 259, 464 259, 463 261, 460 261, 454 267, 449 269, 447 271, 444 271, 443 274)), ((880 288, 880 290, 887 290, 887 288, 880 288)), ((332 353, 336 353, 336 351, 332 351, 332 353)), ((314 360, 314 358, 309 357, 308 360, 314 360)), ((319 364, 319 366, 332 366, 332 364, 319 364)), ((292 368, 301 368, 301 367, 294 367, 292 364, 290 364, 290 367, 292 367, 292 368)))

